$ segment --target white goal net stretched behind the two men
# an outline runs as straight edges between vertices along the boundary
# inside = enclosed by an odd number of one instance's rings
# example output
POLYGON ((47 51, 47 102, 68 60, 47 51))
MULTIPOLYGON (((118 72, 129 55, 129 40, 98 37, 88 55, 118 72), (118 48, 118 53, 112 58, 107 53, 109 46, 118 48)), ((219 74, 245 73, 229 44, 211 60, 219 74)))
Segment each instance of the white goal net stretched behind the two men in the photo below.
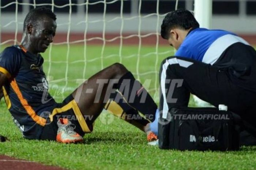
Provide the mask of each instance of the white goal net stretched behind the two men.
POLYGON ((123 63, 131 69, 142 83, 147 83, 146 80, 149 79, 148 90, 158 100, 159 64, 163 58, 173 54, 172 48, 161 47, 160 25, 166 12, 177 9, 179 4, 185 7, 184 0, 172 0, 170 6, 162 4, 169 1, 65 0, 64 4, 60 0, 1 1, 0 48, 2 51, 7 45, 20 43, 23 20, 31 8, 50 7, 54 12, 57 11, 57 41, 54 39, 54 43, 42 56, 45 58, 44 71, 49 84, 52 86, 57 84, 56 89, 62 90, 61 95, 54 92, 52 94, 54 97, 63 99, 66 93, 72 92, 78 84, 113 61, 123 63), (147 1, 151 1, 150 6, 147 1), (115 8, 110 8, 111 5, 117 3, 118 7, 116 5, 115 8), (130 9, 126 7, 127 4, 130 9), (103 10, 96 10, 96 12, 91 10, 95 10, 97 5, 101 5, 103 10), (108 12, 109 9, 116 10, 117 8, 119 8, 119 14, 108 12), (166 8, 166 12, 160 11, 163 8, 166 8), (59 13, 60 9, 67 11, 59 13), (73 11, 73 9, 76 10, 73 11), (153 9, 154 12, 148 12, 147 9, 153 9), (61 34, 57 36, 59 32, 61 34), (73 34, 76 38, 73 38, 73 34), (75 46, 79 46, 79 49, 75 46), (97 46, 95 57, 91 57, 92 46, 93 48, 97 46), (54 48, 58 48, 59 51, 54 51, 54 48), (109 48, 113 49, 113 52, 109 48), (75 50, 80 52, 78 57, 74 57, 75 50), (60 57, 63 51, 65 51, 65 56, 60 57), (91 69, 92 65, 95 68, 91 69), (60 70, 62 70, 61 75, 57 75, 56 72, 60 70), (78 70, 81 73, 76 76, 78 70))

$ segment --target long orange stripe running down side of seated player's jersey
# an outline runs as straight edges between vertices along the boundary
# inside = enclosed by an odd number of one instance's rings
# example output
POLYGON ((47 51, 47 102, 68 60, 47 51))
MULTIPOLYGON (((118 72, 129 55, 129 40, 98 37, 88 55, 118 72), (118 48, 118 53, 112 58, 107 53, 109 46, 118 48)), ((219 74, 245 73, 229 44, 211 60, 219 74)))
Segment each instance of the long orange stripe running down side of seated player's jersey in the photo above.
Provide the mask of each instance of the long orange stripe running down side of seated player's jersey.
POLYGON ((11 87, 13 88, 13 90, 15 91, 15 93, 17 94, 20 103, 22 104, 22 106, 24 107, 24 109, 27 111, 27 113, 29 114, 29 116, 39 125, 45 126, 46 123, 46 119, 38 116, 35 111, 33 110, 33 108, 29 105, 29 103, 27 102, 26 99, 23 98, 21 91, 19 90, 18 84, 16 82, 15 79, 13 79, 11 81, 11 87))

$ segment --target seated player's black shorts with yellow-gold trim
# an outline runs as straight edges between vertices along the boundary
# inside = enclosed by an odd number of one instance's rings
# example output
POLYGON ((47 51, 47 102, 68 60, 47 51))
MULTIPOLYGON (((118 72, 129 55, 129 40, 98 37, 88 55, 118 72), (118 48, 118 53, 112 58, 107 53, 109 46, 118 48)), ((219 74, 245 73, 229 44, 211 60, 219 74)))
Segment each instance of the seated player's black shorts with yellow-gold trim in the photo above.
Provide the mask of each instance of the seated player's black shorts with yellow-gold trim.
POLYGON ((56 103, 53 109, 46 110, 46 112, 50 112, 50 116, 42 130, 41 140, 56 140, 59 118, 67 118, 71 121, 75 125, 74 131, 81 136, 93 131, 93 122, 83 116, 72 94, 65 98, 62 103, 56 103))

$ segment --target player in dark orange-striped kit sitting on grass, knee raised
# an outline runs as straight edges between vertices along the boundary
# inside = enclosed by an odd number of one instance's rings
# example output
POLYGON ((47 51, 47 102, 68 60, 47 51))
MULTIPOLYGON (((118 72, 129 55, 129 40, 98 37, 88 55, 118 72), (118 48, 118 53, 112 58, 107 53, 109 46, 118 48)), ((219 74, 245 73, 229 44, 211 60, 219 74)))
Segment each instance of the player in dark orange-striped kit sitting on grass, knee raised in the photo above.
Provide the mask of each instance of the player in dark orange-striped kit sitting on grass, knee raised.
POLYGON ((24 21, 21 44, 4 49, 0 56, 0 88, 23 136, 63 143, 82 141, 105 108, 146 132, 148 140, 156 139, 148 123, 154 120, 157 105, 122 64, 96 73, 62 103, 54 101, 48 94, 44 59, 39 53, 53 42, 56 27, 51 10, 31 10, 24 21), (127 115, 136 117, 129 120, 127 115))

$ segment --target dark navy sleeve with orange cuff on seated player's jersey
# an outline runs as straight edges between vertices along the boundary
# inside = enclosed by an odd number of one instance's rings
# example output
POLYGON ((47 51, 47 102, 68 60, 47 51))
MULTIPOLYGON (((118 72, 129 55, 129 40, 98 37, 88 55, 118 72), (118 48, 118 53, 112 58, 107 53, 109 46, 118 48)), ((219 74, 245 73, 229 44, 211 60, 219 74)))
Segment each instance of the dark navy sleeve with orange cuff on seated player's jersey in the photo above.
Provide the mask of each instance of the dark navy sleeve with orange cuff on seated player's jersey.
POLYGON ((4 73, 7 78, 15 75, 20 68, 20 51, 12 46, 4 49, 0 54, 0 72, 4 73))

